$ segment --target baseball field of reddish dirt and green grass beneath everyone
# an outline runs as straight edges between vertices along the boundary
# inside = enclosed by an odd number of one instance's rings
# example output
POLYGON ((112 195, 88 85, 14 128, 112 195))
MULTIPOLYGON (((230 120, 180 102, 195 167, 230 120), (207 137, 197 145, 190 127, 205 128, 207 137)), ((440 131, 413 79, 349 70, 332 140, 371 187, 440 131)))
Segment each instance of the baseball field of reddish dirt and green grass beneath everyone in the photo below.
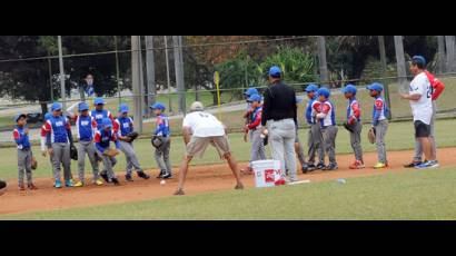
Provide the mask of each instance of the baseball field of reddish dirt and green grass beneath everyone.
MULTIPOLYGON (((366 169, 349 170, 353 161, 348 132, 339 127, 335 171, 300 174, 306 184, 275 188, 255 188, 254 177, 246 175, 245 190, 234 190, 235 181, 214 149, 195 159, 186 183, 187 195, 171 196, 177 178, 165 185, 159 179, 123 181, 125 157, 116 166, 121 186, 105 185, 83 188, 52 188, 48 158, 33 152, 39 161, 33 173, 39 190, 17 189, 14 148, 0 149, 0 177, 9 187, 0 197, 0 219, 456 219, 456 134, 455 119, 438 120, 436 137, 440 168, 405 169, 414 147, 413 124, 390 124, 386 147, 390 167, 370 168, 376 163, 375 146, 367 142, 368 126, 363 130, 366 169), (338 183, 337 179, 345 179, 338 183)), ((307 130, 299 130, 307 140, 307 130)), ((250 145, 240 134, 229 136, 235 157, 245 166, 250 145)), ((307 144, 305 144, 307 145, 307 144)), ((152 176, 158 175, 148 139, 139 139, 135 148, 140 164, 152 176)), ((268 149, 269 151, 269 149, 268 149)), ((171 164, 177 167, 184 156, 184 142, 174 137, 171 164)), ((88 163, 87 163, 88 164, 88 163)), ((72 173, 76 175, 76 163, 72 173)), ((90 168, 88 168, 90 169, 90 168)), ((89 176, 87 174, 87 177, 89 176)))

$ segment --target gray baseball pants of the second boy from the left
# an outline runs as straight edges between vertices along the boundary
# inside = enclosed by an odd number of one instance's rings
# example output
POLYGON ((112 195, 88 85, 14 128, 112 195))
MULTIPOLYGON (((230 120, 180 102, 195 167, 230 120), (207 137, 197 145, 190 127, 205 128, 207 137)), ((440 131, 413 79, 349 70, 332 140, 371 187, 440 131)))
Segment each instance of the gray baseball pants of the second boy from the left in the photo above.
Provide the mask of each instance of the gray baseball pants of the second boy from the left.
POLYGON ((71 163, 70 163, 70 144, 52 144, 52 161, 53 161, 53 178, 60 180, 60 170, 63 165, 63 178, 65 180, 70 180, 71 175, 71 163))

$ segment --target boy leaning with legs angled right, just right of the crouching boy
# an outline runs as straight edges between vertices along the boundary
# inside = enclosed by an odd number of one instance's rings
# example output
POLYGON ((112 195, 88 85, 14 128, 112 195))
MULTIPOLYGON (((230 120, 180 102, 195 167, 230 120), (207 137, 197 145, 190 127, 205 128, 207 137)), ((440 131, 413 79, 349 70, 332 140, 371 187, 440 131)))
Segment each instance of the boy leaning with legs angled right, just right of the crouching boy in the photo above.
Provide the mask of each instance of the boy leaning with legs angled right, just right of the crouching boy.
POLYGON ((150 178, 147 175, 141 166, 139 165, 138 157, 136 156, 133 145, 128 136, 133 131, 133 119, 128 116, 128 105, 121 104, 119 106, 119 117, 116 119, 113 124, 113 130, 119 138, 120 150, 125 154, 127 159, 127 174, 125 176, 127 181, 133 181, 131 177, 132 169, 137 171, 138 177, 148 179, 150 178))

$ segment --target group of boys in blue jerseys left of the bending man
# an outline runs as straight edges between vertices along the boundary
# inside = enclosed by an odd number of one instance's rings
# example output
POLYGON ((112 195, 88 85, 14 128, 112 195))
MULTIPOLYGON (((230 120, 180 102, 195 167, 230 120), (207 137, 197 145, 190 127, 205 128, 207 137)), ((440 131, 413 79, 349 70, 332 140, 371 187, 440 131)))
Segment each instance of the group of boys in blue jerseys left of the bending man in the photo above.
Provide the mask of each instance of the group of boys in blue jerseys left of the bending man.
MULTIPOLYGON (((41 154, 46 157, 49 154, 54 187, 61 188, 61 167, 63 167, 63 181, 66 187, 86 186, 85 169, 86 155, 89 157, 92 168, 91 183, 98 186, 105 183, 119 185, 113 166, 117 164, 118 150, 126 157, 127 181, 133 181, 132 173, 136 170, 138 177, 149 179, 141 168, 133 149, 132 140, 136 136, 133 120, 128 116, 128 105, 121 104, 117 118, 109 110, 105 109, 105 100, 96 98, 95 109, 89 110, 89 105, 85 101, 77 102, 69 107, 66 112, 59 102, 51 105, 51 112, 46 114, 44 124, 41 127, 41 154), (77 107, 78 112, 73 109, 77 107), (75 121, 78 148, 76 149, 70 121, 75 121), (111 142, 115 148, 111 147, 111 142), (77 157, 73 157, 77 156, 77 157), (71 173, 71 159, 78 160, 78 181, 73 183, 71 173), (99 161, 103 163, 103 169, 99 171, 99 161)), ((160 168, 157 178, 167 179, 172 176, 169 163, 170 129, 168 117, 163 115, 165 106, 157 102, 150 106, 156 115, 157 127, 153 136, 159 137, 162 144, 156 148, 155 157, 160 168)), ((32 181, 32 168, 36 159, 32 155, 29 140, 29 129, 27 128, 27 116, 18 114, 14 116, 17 127, 13 130, 13 139, 18 149, 18 185, 20 190, 24 190, 23 175, 27 176, 27 187, 30 190, 37 189, 32 181)))

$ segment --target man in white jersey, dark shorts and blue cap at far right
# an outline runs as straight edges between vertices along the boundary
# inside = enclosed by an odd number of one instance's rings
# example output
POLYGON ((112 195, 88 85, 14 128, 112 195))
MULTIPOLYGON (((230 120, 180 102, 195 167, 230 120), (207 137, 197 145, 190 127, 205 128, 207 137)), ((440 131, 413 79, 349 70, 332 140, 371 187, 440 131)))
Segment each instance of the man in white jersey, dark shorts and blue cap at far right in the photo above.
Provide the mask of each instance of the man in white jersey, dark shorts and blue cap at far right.
POLYGON ((433 89, 429 79, 424 72, 425 65, 423 57, 416 56, 412 58, 410 71, 415 77, 410 82, 408 95, 400 95, 403 99, 410 101, 412 114, 414 116, 415 137, 420 141, 425 157, 428 160, 415 167, 418 169, 438 167, 438 161, 432 150, 433 140, 430 139, 433 89))

